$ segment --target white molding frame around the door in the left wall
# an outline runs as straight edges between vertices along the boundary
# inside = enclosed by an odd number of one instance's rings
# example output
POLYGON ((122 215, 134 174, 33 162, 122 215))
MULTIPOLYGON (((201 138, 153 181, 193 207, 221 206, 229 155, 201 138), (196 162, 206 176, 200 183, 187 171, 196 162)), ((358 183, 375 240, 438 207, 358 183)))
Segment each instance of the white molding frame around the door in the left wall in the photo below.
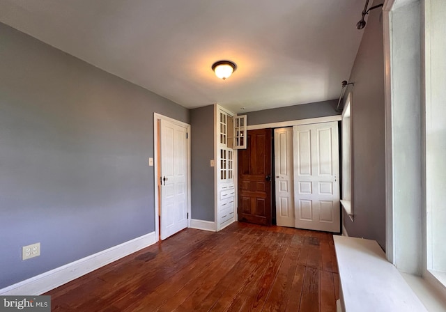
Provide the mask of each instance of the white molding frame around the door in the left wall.
POLYGON ((189 217, 187 218, 187 227, 190 228, 190 219, 192 217, 191 215, 191 185, 190 185, 190 175, 191 175, 191 166, 190 166, 190 124, 183 123, 183 121, 176 120, 174 118, 170 118, 161 114, 153 113, 153 187, 155 191, 155 242, 160 240, 160 220, 159 220, 159 214, 158 214, 158 205, 160 203, 160 198, 158 196, 158 162, 160 162, 160 159, 158 159, 158 153, 157 153, 157 146, 158 146, 158 127, 157 122, 158 120, 166 120, 169 121, 169 123, 174 123, 175 125, 179 125, 180 127, 185 127, 187 130, 187 214, 189 217))

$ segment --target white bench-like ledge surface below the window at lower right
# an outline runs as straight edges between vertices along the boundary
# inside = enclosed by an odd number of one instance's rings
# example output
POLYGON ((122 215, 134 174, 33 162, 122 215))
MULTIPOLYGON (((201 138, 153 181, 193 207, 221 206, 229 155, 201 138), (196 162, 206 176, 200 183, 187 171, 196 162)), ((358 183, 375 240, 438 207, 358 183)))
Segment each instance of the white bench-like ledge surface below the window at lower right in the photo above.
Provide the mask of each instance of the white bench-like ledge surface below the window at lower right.
POLYGON ((345 312, 426 311, 374 240, 333 235, 345 312))

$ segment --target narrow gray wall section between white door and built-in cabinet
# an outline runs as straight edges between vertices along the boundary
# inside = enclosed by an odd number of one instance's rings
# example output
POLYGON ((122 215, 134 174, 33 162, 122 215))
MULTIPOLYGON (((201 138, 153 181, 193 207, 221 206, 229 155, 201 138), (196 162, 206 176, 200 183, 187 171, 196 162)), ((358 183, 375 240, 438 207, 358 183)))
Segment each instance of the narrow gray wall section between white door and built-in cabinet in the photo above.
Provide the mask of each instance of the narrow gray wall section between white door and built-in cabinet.
POLYGON ((190 111, 192 124, 192 219, 214 221, 215 180, 214 167, 214 106, 209 105, 190 111))

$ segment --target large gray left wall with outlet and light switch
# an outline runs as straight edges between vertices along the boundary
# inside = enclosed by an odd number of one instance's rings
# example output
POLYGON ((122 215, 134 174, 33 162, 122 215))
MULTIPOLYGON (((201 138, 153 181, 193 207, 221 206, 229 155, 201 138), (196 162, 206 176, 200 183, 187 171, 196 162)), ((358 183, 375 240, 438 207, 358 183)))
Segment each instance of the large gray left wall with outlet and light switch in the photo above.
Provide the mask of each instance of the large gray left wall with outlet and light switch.
POLYGON ((155 229, 153 112, 189 111, 0 24, 0 288, 155 229), (21 248, 41 243, 41 256, 21 248))

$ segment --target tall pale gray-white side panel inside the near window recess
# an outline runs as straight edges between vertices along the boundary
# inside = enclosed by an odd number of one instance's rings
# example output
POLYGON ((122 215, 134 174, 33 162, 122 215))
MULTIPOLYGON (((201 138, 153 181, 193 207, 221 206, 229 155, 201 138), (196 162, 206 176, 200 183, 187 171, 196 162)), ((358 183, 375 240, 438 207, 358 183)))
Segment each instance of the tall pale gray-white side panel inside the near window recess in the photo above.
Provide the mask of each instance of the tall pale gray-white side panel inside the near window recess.
MULTIPOLYGON (((392 189, 394 264, 402 272, 422 272, 422 145, 420 3, 392 10, 392 189)), ((395 7, 395 6, 394 6, 395 7)))

